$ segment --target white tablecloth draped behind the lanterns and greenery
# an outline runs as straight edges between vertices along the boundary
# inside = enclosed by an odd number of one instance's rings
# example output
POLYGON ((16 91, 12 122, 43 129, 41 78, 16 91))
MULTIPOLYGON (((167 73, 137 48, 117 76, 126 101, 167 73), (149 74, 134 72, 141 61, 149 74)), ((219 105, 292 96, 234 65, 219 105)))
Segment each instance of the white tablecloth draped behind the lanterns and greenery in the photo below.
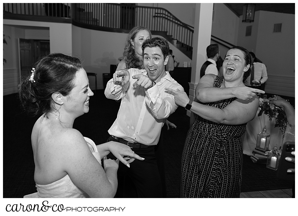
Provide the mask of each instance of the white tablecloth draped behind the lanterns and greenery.
MULTIPOLYGON (((257 112, 258 115, 259 111, 257 112)), ((275 118, 269 120, 269 117, 266 114, 257 116, 246 125, 246 132, 242 136, 243 141, 243 154, 252 155, 252 150, 257 146, 257 134, 260 131, 263 131, 263 127, 266 125, 267 134, 270 134, 270 143, 269 150, 274 148, 274 145, 277 145, 277 148, 282 145, 283 142, 283 133, 280 128, 275 128, 275 118)))

